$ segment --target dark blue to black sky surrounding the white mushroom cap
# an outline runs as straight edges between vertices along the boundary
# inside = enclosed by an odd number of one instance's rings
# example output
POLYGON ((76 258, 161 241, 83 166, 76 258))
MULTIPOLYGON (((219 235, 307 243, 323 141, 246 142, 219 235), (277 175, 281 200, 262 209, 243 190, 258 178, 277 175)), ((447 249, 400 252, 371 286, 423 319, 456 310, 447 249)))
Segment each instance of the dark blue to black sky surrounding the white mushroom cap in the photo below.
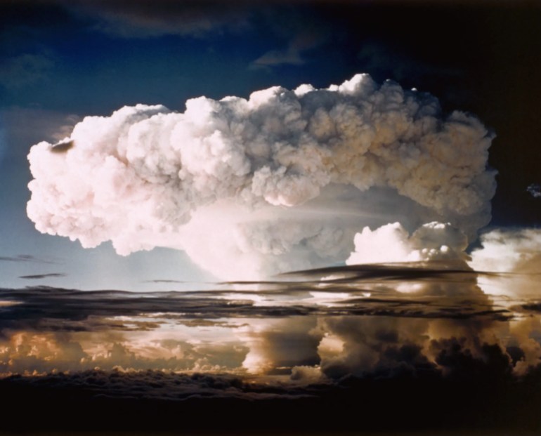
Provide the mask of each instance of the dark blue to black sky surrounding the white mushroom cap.
POLYGON ((492 224, 539 225, 541 199, 527 187, 541 183, 541 8, 526 1, 473 3, 2 1, 0 256, 8 260, 0 268, 6 286, 27 284, 18 277, 32 272, 65 273, 46 283, 82 288, 209 279, 181 253, 119 258, 109 246, 86 251, 39 234, 25 214, 26 155, 34 143, 63 138, 82 117, 124 105, 182 111, 187 98, 199 95, 247 97, 278 84, 326 87, 358 72, 432 93, 444 111, 476 114, 497 134, 490 149, 500 174, 492 224), (100 277, 138 275, 100 281, 98 271, 100 277))

